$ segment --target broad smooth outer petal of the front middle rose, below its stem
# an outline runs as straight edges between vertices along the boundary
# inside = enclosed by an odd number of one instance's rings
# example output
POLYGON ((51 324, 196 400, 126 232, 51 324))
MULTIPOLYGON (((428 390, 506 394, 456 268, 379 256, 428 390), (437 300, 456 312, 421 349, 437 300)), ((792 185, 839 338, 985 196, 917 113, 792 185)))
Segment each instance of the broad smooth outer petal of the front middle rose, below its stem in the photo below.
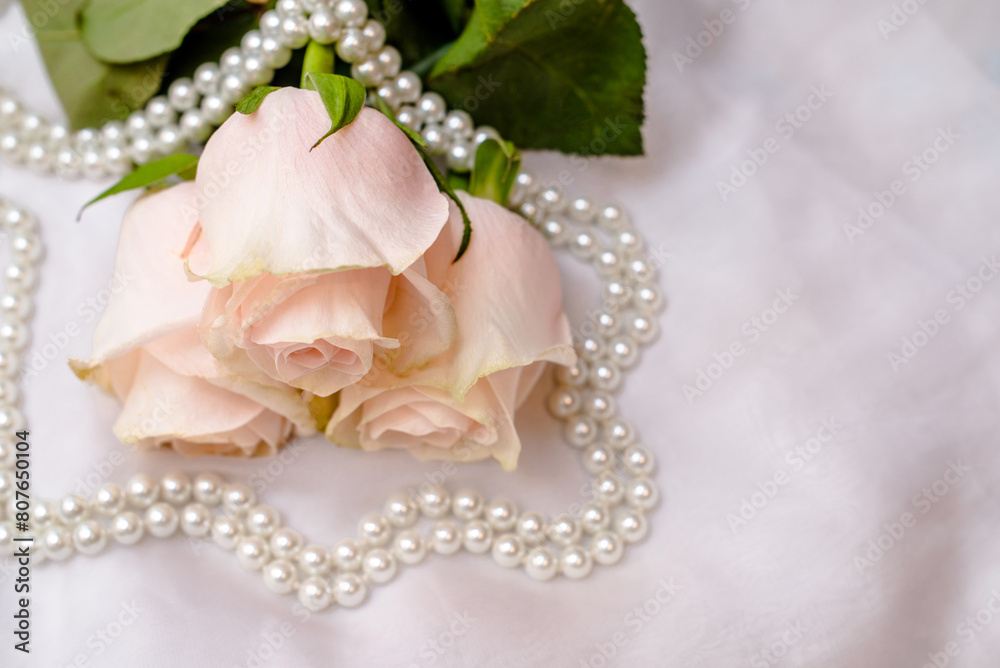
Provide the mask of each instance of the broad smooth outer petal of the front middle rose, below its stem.
POLYGON ((363 109, 330 127, 315 91, 283 88, 212 135, 196 183, 215 285, 362 267, 398 274, 431 245, 447 203, 409 139, 363 109))

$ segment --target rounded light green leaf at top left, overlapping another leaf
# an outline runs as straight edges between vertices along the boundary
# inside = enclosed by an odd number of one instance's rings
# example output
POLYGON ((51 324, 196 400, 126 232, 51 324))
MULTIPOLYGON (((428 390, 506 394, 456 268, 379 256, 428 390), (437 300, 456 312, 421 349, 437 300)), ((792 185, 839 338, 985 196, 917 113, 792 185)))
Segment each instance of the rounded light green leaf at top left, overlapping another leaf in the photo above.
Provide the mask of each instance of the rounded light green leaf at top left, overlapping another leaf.
POLYGON ((80 30, 99 60, 132 63, 173 51, 195 23, 227 1, 90 0, 80 30))

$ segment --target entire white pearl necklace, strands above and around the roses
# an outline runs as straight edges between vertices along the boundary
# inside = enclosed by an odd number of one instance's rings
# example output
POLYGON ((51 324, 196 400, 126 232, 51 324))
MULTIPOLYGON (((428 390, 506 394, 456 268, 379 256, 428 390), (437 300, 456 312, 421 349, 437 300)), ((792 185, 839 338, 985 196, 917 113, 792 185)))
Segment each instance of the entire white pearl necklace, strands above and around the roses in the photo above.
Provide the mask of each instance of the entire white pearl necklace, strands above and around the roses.
MULTIPOLYGON (((0 91, 0 157, 66 178, 125 173, 133 163, 203 141, 235 101, 288 62, 291 49, 313 39, 336 43, 337 54, 352 63, 352 75, 371 95, 420 132, 433 153, 446 156, 451 169, 469 171, 475 147, 498 136, 496 130, 475 128, 462 110, 449 112, 436 93, 421 94, 420 78, 399 71, 399 52, 384 45, 385 31, 367 18, 367 11, 364 0, 280 0, 261 18, 260 30, 247 33, 220 63, 202 65, 192 80, 175 81, 167 96, 153 98, 144 111, 100 130, 71 135, 0 91)), ((645 513, 659 497, 650 479, 653 456, 636 443, 613 396, 638 361, 640 347, 658 332, 655 314, 663 297, 655 267, 644 259, 642 239, 618 206, 568 198, 558 186, 543 187, 526 171, 517 177, 510 206, 553 247, 569 246, 603 280, 601 310, 577 330, 579 360, 556 371, 548 401, 552 415, 565 422, 566 440, 582 451, 584 468, 594 475, 593 500, 575 515, 547 519, 535 511, 519 512, 507 499, 487 500, 474 490, 453 494, 426 484, 391 495, 381 512, 361 519, 357 536, 328 547, 307 543, 302 533, 282 526, 274 508, 258 503, 249 486, 215 473, 193 480, 181 473, 159 480, 138 474, 124 488, 106 483, 90 498, 70 494, 58 503, 32 500, 30 508, 17 500, 17 443, 6 439, 26 428, 17 379, 30 342, 42 242, 34 216, 0 198, 0 231, 11 246, 11 264, 3 272, 6 293, 0 296, 0 555, 25 544, 15 542, 15 521, 26 517, 32 531, 40 531, 30 544, 36 564, 62 561, 74 552, 96 555, 109 538, 133 545, 146 533, 166 538, 180 531, 234 551, 243 568, 262 573, 269 589, 296 593, 312 611, 359 605, 369 589, 390 581, 400 564, 418 564, 430 552, 448 555, 464 548, 490 554, 499 565, 523 568, 536 580, 580 579, 595 563, 620 561, 627 543, 645 537, 645 513), (418 529, 421 522, 429 529, 418 529)))

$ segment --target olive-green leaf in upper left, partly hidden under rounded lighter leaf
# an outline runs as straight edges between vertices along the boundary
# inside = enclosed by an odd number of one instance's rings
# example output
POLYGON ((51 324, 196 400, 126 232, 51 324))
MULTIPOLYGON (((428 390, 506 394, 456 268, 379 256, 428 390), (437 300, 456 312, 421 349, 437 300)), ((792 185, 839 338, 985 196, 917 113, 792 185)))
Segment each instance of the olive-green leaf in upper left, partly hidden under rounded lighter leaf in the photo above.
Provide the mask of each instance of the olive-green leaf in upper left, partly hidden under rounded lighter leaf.
MULTIPOLYGON (((23 0, 52 85, 73 129, 124 119, 141 108, 160 87, 167 62, 161 56, 130 65, 111 65, 95 58, 77 30, 77 15, 86 2, 23 0)), ((10 34, 15 48, 20 40, 30 46, 29 38, 10 34)))

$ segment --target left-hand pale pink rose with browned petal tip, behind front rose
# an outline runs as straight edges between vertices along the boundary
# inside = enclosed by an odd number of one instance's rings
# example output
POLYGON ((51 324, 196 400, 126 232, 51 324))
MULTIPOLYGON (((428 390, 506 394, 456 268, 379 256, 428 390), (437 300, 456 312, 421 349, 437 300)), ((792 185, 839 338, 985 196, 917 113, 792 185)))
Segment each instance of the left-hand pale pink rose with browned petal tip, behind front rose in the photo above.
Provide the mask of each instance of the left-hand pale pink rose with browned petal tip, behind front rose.
POLYGON ((115 434, 141 447, 171 445, 185 455, 272 454, 293 427, 315 431, 298 393, 236 376, 205 349, 197 324, 211 287, 191 282, 182 253, 191 233, 185 183, 141 197, 122 222, 115 272, 129 276, 94 333, 81 378, 123 404, 115 434))

